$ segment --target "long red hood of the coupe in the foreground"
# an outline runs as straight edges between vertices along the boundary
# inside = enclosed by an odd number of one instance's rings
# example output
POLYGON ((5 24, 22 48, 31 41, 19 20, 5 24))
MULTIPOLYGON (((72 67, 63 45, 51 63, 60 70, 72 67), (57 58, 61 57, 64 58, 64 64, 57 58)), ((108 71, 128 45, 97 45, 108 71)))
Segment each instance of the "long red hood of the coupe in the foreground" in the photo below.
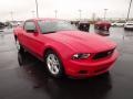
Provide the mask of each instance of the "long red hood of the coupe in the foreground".
POLYGON ((95 53, 112 50, 116 46, 114 42, 106 37, 81 31, 61 31, 47 36, 65 44, 74 52, 95 53))

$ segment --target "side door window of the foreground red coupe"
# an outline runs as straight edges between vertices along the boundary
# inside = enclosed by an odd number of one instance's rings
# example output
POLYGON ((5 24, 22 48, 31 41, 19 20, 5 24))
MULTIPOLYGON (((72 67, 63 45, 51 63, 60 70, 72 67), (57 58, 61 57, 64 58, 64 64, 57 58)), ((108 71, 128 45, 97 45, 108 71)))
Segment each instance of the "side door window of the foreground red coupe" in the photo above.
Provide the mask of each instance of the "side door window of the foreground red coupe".
POLYGON ((25 30, 27 32, 30 32, 30 33, 37 32, 34 22, 31 22, 31 21, 25 22, 25 23, 24 23, 24 30, 25 30))

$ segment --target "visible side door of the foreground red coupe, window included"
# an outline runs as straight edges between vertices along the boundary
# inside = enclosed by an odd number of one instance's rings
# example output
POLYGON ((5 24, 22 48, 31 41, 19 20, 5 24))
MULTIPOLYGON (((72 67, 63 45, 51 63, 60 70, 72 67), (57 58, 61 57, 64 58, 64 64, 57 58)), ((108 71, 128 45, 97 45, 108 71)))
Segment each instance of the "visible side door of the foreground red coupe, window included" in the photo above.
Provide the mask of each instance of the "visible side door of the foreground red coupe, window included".
POLYGON ((33 54, 40 56, 42 51, 42 42, 39 36, 37 25, 33 21, 27 21, 24 24, 25 47, 33 54))

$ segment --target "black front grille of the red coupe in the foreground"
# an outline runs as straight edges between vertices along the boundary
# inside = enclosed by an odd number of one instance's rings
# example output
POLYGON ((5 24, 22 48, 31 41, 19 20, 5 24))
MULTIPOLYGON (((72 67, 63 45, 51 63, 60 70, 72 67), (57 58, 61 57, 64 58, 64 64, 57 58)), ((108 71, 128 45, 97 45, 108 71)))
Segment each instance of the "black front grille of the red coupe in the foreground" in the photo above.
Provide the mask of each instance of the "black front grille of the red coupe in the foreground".
POLYGON ((114 52, 114 50, 98 53, 98 54, 94 55, 93 59, 100 59, 100 58, 111 56, 113 52, 114 52))

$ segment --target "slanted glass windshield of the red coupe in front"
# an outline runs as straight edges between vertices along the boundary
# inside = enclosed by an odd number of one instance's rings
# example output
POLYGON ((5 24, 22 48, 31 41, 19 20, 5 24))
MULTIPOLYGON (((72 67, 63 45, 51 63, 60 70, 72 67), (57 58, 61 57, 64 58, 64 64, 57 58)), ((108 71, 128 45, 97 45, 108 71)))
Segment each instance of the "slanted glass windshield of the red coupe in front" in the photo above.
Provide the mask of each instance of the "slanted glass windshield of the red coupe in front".
POLYGON ((38 21, 42 33, 53 33, 58 31, 76 31, 78 29, 66 21, 38 21))

